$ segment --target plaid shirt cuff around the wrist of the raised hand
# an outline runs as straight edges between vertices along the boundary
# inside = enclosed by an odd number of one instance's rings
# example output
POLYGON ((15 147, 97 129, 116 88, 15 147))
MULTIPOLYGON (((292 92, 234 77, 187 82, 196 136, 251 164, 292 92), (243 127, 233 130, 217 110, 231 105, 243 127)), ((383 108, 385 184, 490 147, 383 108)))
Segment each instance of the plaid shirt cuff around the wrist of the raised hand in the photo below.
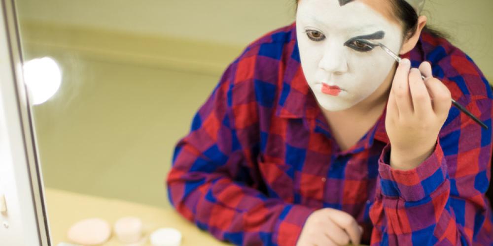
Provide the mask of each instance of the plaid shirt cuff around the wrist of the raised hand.
POLYGON ((429 197, 448 179, 447 163, 439 139, 433 153, 411 170, 390 167, 390 143, 384 147, 378 162, 380 186, 386 197, 401 197, 408 202, 420 201, 429 197))

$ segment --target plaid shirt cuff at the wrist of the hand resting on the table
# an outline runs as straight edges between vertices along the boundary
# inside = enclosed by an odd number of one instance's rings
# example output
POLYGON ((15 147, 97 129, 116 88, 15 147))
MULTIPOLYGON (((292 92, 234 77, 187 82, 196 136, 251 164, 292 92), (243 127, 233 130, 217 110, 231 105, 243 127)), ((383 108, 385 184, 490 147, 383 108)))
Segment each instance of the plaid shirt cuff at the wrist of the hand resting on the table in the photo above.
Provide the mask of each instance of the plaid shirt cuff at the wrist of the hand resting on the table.
POLYGON ((284 207, 276 223, 276 230, 273 235, 274 243, 276 245, 295 246, 308 216, 313 212, 315 209, 303 205, 284 207))

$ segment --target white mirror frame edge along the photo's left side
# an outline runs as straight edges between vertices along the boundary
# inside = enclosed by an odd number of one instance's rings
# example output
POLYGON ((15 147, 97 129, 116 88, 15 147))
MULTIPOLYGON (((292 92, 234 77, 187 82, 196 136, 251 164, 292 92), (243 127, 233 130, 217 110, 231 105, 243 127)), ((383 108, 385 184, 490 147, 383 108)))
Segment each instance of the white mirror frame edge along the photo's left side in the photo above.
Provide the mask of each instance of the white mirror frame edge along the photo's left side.
POLYGON ((0 0, 0 213, 2 245, 49 246, 32 111, 22 78, 14 0, 0 0))

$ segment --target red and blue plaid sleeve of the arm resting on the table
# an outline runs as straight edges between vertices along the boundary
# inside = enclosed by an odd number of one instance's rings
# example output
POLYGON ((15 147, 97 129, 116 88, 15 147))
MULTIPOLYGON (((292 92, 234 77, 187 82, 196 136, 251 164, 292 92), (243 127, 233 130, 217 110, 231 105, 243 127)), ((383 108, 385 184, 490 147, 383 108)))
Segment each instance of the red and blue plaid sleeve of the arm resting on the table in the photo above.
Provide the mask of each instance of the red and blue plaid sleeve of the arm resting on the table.
POLYGON ((181 215, 219 240, 295 245, 313 210, 260 191, 258 108, 252 83, 240 81, 251 74, 250 62, 244 59, 226 69, 195 115, 190 133, 177 143, 168 196, 181 215))

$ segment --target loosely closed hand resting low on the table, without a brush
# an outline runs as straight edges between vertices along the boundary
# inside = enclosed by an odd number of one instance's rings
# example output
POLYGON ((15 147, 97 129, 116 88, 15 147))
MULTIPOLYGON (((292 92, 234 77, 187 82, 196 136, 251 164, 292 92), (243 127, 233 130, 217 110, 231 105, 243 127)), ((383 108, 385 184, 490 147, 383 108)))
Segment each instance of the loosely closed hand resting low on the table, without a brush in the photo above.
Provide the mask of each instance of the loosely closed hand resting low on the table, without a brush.
POLYGON ((331 208, 308 216, 296 246, 359 245, 363 228, 348 213, 331 208))

